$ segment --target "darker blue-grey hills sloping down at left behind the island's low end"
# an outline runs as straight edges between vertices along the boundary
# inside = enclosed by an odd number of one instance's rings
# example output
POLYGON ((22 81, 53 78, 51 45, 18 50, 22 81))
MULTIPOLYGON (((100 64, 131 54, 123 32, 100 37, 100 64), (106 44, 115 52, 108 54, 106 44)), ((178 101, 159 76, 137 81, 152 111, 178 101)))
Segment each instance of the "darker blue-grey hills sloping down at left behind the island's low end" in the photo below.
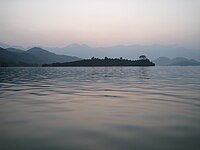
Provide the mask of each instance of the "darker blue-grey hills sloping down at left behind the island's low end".
POLYGON ((57 55, 39 47, 34 47, 27 51, 0 47, 0 66, 40 66, 47 63, 62 63, 77 60, 81 60, 81 58, 57 55))

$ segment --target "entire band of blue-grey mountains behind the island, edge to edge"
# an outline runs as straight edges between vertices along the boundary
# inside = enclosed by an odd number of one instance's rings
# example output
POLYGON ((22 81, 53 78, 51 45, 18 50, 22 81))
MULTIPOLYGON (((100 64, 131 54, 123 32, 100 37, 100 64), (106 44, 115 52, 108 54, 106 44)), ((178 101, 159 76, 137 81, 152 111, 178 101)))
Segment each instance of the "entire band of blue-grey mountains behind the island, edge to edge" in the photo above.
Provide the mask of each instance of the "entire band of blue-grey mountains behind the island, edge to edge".
POLYGON ((200 60, 199 51, 174 45, 121 45, 92 48, 87 45, 71 44, 64 48, 33 47, 26 50, 21 46, 9 46, 0 43, 0 47, 0 66, 42 66, 43 64, 81 61, 94 56, 99 58, 123 57, 133 60, 138 59, 141 54, 145 54, 157 66, 200 65, 200 62, 197 61, 200 60))

